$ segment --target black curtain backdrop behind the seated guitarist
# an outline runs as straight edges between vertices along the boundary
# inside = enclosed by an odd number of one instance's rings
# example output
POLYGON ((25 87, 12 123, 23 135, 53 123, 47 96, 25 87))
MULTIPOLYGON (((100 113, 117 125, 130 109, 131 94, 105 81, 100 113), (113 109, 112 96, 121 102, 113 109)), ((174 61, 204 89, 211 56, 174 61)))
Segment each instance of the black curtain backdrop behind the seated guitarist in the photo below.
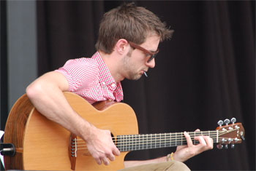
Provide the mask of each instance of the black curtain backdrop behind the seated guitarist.
MULTIPOLYGON (((38 76, 70 58, 93 55, 102 15, 122 2, 37 1, 38 76)), ((156 67, 147 79, 122 81, 124 103, 135 110, 140 133, 215 130, 219 119, 236 117, 246 132, 243 143, 222 150, 214 145, 185 163, 191 170, 255 170, 255 1, 135 4, 175 30, 170 41, 159 44, 156 67)), ((6 41, 4 22, 1 42, 6 41)), ((6 63, 1 57, 1 121, 7 118, 6 63)), ((175 150, 135 151, 127 159, 152 159, 175 150)))

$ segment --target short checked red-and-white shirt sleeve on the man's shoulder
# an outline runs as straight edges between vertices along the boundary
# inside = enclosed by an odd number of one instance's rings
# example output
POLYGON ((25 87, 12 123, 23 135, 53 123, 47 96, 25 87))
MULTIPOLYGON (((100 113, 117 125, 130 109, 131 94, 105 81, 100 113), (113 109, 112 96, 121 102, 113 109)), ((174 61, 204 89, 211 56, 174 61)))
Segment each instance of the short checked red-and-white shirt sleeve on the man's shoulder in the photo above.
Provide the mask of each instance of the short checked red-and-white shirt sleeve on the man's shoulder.
POLYGON ((79 90, 89 90, 99 81, 99 67, 97 62, 91 58, 79 58, 68 60, 67 63, 58 70, 62 73, 68 83, 69 92, 78 92, 79 90))

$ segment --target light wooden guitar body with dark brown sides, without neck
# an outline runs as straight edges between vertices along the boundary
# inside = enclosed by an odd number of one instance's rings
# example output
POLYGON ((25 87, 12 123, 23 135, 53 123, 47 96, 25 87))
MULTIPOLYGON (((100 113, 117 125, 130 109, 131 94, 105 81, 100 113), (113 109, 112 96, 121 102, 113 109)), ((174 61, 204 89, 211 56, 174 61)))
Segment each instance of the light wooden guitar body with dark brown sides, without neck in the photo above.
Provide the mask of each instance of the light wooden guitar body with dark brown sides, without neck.
MULTIPOLYGON (((86 100, 71 92, 64 92, 69 105, 95 127, 110 130, 117 135, 138 134, 135 112, 124 103, 114 103, 107 108, 99 103, 91 106, 86 100), (98 110, 98 109, 99 110, 98 110)), ((102 102, 105 103, 105 102, 102 102)), ((48 120, 31 105, 23 95, 12 107, 7 119, 4 143, 12 143, 15 156, 4 156, 6 170, 71 170, 69 138, 71 133, 59 124, 48 120)), ((98 165, 88 151, 78 151, 75 170, 119 170, 124 168, 121 152, 110 165, 98 165)))

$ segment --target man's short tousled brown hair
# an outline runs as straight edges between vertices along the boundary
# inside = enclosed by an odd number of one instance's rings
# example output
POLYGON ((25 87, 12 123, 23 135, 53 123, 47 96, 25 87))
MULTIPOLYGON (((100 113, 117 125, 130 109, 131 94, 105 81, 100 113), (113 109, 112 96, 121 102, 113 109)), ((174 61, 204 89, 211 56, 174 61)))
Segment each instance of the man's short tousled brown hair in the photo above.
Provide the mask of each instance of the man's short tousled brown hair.
POLYGON ((136 7, 134 3, 122 4, 103 16, 95 47, 110 54, 118 39, 143 44, 150 33, 157 33, 160 41, 163 41, 170 39, 173 30, 166 28, 166 24, 148 9, 136 7))

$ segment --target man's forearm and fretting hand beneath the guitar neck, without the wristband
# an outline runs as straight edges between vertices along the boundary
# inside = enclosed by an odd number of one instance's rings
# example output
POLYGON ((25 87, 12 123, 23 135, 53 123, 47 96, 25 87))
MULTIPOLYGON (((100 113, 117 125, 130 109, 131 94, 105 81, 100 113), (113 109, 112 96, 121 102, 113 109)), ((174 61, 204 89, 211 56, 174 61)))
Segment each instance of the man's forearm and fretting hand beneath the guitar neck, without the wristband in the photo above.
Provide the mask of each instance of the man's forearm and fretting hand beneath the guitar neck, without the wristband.
MULTIPOLYGON (((187 146, 178 146, 176 152, 173 154, 173 160, 185 162, 192 156, 196 156, 197 154, 200 154, 203 151, 207 151, 213 148, 213 140, 208 136, 195 137, 195 140, 199 141, 199 144, 197 145, 193 145, 192 140, 187 132, 184 132, 184 136, 187 140, 187 146)), ((126 161, 124 162, 124 167, 135 167, 141 164, 151 164, 158 162, 167 162, 167 156, 143 161, 126 161)))

